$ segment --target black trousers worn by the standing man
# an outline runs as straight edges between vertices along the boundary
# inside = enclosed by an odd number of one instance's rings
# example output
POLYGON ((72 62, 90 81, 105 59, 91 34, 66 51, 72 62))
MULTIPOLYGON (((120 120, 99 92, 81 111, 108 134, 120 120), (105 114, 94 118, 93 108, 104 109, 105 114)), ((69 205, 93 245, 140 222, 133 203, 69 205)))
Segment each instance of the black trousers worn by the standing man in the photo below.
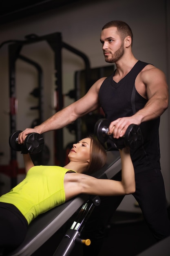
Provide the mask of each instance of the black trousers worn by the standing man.
MULTIPOLYGON (((118 173, 114 180, 121 180, 121 173, 118 173)), ((170 235, 170 221, 161 171, 159 169, 142 171, 135 174, 135 180, 136 192, 133 195, 141 207, 150 231, 156 240, 166 238, 170 235)), ((106 226, 124 196, 100 198, 101 204, 95 207, 84 228, 84 238, 90 238, 92 241, 91 246, 84 247, 84 256, 98 255, 106 226)))

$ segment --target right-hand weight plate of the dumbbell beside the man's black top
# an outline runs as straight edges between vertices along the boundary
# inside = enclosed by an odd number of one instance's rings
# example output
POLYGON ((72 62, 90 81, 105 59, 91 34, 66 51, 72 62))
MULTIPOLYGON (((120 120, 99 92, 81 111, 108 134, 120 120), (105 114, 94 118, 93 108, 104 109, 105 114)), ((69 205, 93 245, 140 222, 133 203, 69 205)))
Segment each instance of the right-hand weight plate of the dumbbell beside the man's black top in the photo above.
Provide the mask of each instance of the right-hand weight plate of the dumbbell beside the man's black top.
POLYGON ((141 129, 137 124, 130 124, 124 135, 125 145, 131 149, 139 147, 143 143, 141 129))

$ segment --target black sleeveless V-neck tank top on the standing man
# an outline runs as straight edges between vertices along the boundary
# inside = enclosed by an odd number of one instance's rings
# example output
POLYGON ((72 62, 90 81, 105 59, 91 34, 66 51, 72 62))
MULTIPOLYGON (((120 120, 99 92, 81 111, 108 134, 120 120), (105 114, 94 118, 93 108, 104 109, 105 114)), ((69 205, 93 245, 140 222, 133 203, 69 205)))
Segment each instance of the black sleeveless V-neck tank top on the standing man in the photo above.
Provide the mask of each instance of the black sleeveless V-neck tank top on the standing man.
MULTIPOLYGON (((135 79, 146 65, 148 63, 138 61, 118 83, 113 80, 115 73, 108 76, 102 83, 99 90, 99 101, 105 117, 110 122, 119 117, 130 117, 144 108, 147 100, 137 92, 135 79)), ((136 173, 152 168, 160 168, 159 122, 160 118, 157 118, 143 122, 140 125, 144 145, 135 150, 130 150, 136 173)), ((111 139, 108 138, 107 144, 108 150, 116 150, 111 139)))

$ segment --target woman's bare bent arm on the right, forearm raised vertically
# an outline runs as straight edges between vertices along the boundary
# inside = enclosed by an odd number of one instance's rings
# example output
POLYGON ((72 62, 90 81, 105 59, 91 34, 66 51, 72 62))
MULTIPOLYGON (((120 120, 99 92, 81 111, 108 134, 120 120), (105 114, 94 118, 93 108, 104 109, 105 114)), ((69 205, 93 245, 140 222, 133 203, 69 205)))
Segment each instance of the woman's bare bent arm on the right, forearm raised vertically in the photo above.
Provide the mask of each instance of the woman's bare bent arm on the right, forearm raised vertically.
POLYGON ((121 156, 121 181, 103 180, 82 174, 65 175, 64 189, 66 200, 81 193, 89 195, 126 195, 135 192, 135 172, 129 149, 119 150, 121 156))

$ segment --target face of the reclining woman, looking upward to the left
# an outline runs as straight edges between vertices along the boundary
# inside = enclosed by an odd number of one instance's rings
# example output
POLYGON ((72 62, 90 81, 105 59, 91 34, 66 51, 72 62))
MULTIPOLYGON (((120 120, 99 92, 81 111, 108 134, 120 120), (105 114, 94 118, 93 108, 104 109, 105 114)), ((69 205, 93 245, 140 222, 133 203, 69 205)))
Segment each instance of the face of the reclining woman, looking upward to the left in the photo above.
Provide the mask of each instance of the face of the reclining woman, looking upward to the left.
POLYGON ((90 162, 91 139, 85 138, 73 144, 73 148, 68 154, 68 158, 73 162, 90 162))

